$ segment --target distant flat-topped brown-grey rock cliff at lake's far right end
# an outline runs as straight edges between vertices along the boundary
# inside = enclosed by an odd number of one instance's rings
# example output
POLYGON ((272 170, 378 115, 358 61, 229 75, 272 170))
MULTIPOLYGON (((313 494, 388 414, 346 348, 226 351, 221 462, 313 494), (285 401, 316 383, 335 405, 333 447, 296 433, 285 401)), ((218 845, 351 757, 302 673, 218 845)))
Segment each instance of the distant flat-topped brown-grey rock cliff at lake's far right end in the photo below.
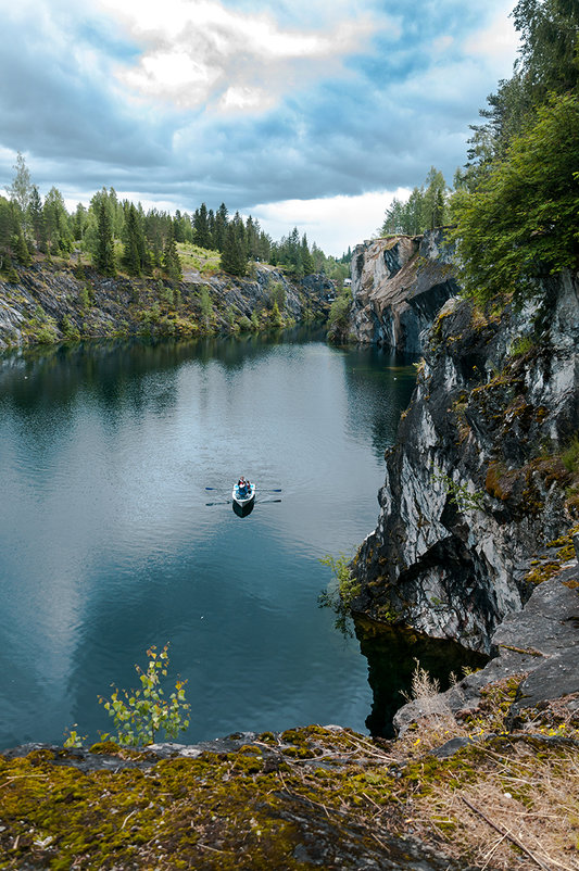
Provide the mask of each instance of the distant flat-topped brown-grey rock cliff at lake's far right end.
POLYGON ((442 228, 364 242, 352 255, 352 334, 419 354, 420 333, 458 290, 442 228))

